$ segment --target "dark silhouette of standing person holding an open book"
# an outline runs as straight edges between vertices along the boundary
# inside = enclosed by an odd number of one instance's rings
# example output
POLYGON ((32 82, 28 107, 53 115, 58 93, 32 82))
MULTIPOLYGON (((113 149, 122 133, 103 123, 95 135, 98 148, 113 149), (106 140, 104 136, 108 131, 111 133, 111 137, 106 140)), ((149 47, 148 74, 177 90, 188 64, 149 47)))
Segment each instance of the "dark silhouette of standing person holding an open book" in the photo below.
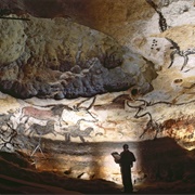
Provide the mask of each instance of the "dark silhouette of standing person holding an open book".
POLYGON ((133 191, 132 179, 131 179, 131 168, 133 161, 135 161, 134 154, 129 151, 129 145, 123 144, 123 151, 120 153, 120 159, 115 161, 120 165, 121 180, 123 184, 123 192, 131 193, 133 191))

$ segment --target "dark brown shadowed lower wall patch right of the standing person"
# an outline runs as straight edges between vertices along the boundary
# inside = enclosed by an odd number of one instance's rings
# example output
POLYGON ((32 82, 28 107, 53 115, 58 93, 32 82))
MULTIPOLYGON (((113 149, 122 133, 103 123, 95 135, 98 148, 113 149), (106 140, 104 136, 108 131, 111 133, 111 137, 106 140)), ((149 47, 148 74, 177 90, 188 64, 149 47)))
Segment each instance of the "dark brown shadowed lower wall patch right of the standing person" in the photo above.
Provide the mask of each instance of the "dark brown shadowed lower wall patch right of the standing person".
MULTIPOLYGON (((170 138, 139 143, 140 172, 150 181, 187 181, 194 174, 193 151, 182 148, 170 138)), ((194 174, 195 179, 195 174, 194 174)))

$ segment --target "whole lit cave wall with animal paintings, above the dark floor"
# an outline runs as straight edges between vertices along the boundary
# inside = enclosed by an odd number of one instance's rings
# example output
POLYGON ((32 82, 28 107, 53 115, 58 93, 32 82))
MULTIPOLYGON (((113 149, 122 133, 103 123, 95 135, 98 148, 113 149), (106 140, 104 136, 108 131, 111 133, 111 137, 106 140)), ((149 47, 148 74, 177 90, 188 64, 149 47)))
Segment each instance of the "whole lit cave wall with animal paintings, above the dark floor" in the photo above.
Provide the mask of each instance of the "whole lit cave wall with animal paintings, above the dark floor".
POLYGON ((123 143, 138 158, 135 180, 188 161, 193 1, 14 2, 1 2, 8 16, 29 21, 0 21, 1 151, 28 154, 38 170, 119 183, 110 153, 123 143))

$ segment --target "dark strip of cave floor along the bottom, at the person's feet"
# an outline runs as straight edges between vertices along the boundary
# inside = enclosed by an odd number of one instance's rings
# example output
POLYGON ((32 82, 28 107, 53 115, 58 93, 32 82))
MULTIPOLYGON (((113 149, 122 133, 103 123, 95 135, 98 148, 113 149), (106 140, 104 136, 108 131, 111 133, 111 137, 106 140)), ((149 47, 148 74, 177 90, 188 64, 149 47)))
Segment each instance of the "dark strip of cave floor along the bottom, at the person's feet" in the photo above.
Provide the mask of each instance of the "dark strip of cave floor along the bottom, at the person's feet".
MULTIPOLYGON (((104 181, 96 181, 96 185, 100 184, 102 186, 102 183, 104 181)), ((79 185, 82 188, 83 183, 80 182, 79 185)), ((88 190, 82 192, 79 185, 77 184, 77 187, 66 190, 65 187, 27 182, 0 174, 0 194, 123 194, 121 186, 116 188, 115 186, 104 185, 104 190, 96 191, 95 187, 93 188, 93 185, 89 184, 88 190)), ((194 192, 195 184, 177 181, 135 185, 132 194, 194 194, 194 192)))

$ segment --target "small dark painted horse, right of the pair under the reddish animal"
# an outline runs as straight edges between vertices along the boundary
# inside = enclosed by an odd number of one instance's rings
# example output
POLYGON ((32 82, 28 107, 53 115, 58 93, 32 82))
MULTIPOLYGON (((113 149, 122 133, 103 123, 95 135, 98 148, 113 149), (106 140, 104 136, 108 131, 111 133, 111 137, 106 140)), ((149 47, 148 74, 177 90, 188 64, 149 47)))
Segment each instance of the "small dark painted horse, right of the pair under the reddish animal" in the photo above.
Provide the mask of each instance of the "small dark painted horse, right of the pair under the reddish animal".
POLYGON ((88 127, 84 130, 80 129, 80 122, 81 121, 87 121, 84 119, 80 119, 77 121, 76 125, 74 126, 68 126, 67 128, 63 128, 61 135, 65 136, 66 142, 70 142, 70 138, 79 138, 81 142, 86 142, 84 138, 91 138, 90 133, 93 131, 92 127, 88 127))

